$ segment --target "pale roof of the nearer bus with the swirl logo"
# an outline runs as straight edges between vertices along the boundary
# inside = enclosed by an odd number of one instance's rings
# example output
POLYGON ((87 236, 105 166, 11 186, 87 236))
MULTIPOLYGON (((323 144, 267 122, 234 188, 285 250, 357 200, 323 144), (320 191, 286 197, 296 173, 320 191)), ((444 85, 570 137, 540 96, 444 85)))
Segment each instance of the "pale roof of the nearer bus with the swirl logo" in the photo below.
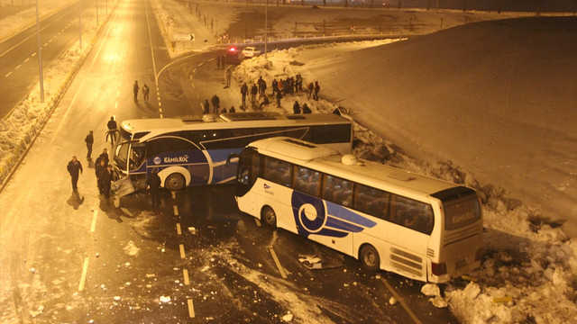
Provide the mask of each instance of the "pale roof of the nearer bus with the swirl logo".
POLYGON ((392 187, 403 187, 408 192, 419 196, 424 194, 429 196, 461 186, 426 175, 418 175, 397 167, 357 159, 352 155, 343 155, 333 149, 316 146, 316 144, 299 139, 284 137, 261 139, 252 142, 249 147, 256 148, 259 153, 266 156, 277 157, 319 172, 386 191, 390 191, 392 187))

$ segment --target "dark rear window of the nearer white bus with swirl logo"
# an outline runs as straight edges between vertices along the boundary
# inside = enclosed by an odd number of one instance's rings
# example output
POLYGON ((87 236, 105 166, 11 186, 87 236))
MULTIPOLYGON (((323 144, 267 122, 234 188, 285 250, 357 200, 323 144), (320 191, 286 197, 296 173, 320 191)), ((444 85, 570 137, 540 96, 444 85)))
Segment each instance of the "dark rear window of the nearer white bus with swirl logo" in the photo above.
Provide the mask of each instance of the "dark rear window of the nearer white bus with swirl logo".
POLYGON ((481 219, 481 205, 477 196, 443 203, 444 229, 461 229, 481 219))

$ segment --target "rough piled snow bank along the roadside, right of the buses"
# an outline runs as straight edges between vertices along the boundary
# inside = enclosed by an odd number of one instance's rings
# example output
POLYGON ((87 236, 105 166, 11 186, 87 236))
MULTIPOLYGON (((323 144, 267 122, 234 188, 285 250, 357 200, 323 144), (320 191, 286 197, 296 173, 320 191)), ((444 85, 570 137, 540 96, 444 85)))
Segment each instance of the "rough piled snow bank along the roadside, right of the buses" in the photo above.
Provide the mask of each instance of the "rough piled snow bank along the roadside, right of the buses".
MULTIPOLYGON (((354 103, 355 98, 370 96, 369 101, 381 103, 380 94, 362 91, 358 86, 365 86, 370 80, 362 81, 367 71, 353 72, 335 76, 316 73, 322 70, 325 62, 331 62, 331 71, 343 67, 354 67, 347 62, 347 57, 364 50, 379 49, 382 42, 357 42, 343 45, 316 45, 298 49, 273 51, 268 60, 263 57, 245 60, 234 71, 234 85, 246 82, 251 85, 262 76, 265 80, 286 78, 297 73, 305 77, 305 82, 333 78, 333 84, 355 87, 356 95, 339 93, 346 97, 347 103, 354 103), (318 69, 317 69, 318 67, 318 69), (356 85, 356 84, 359 85, 356 85)), ((402 46, 401 44, 396 44, 402 46)), ((385 45, 392 46, 392 44, 385 45)), ((366 58, 375 61, 376 58, 366 58)), ((387 73, 377 70, 374 73, 387 73)), ((306 94, 287 95, 282 99, 282 108, 271 103, 265 110, 292 112, 292 103, 307 103, 313 112, 332 112, 340 106, 343 112, 362 120, 363 111, 351 104, 343 106, 343 100, 335 100, 335 92, 320 83, 321 94, 330 100, 318 102, 308 99, 306 94), (335 104, 339 102, 339 105, 335 104)), ((371 105, 379 113, 379 107, 371 105)), ((373 116, 374 122, 383 119, 382 112, 373 116)), ((366 118, 366 116, 365 116, 366 118)), ((384 125, 385 123, 383 123, 384 125)), ((467 129, 469 125, 463 125, 467 129)), ((377 128, 378 130, 379 128, 377 128)), ((367 130, 357 124, 355 127, 360 145, 355 154, 378 160, 392 166, 408 169, 425 175, 432 175, 459 184, 474 187, 481 194, 484 212, 484 253, 481 268, 470 274, 466 280, 455 280, 444 286, 443 293, 432 293, 431 302, 437 307, 449 305, 455 316, 464 323, 568 323, 577 322, 577 240, 568 239, 560 227, 552 227, 544 222, 532 221, 535 208, 531 202, 521 202, 508 197, 498 185, 484 184, 470 171, 462 166, 454 166, 447 159, 430 161, 411 158, 400 152, 392 142, 382 139, 376 132, 367 130), (435 296, 437 294, 437 296, 435 296)), ((435 286, 424 285, 423 292, 435 291, 435 286)), ((426 321, 426 319, 423 319, 426 321)))

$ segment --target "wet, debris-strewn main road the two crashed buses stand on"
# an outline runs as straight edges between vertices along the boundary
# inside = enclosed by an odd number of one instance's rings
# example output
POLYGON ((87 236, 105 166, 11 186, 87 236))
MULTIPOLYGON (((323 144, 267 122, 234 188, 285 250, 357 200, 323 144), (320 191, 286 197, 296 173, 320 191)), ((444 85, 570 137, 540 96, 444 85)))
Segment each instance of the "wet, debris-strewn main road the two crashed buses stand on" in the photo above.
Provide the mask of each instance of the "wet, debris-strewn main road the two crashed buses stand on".
POLYGON ((261 227, 237 210, 230 185, 164 192, 156 210, 144 193, 120 208, 99 196, 88 130, 94 157, 110 148, 110 116, 195 113, 222 89, 214 53, 169 65, 162 47, 150 2, 121 2, 0 196, 0 322, 456 322, 421 283, 367 273, 351 257, 261 227), (133 102, 134 80, 151 87, 149 103, 133 102), (72 155, 84 165, 78 193, 66 171, 72 155), (299 255, 330 267, 308 269, 299 255), (403 302, 391 305, 392 296, 403 302))

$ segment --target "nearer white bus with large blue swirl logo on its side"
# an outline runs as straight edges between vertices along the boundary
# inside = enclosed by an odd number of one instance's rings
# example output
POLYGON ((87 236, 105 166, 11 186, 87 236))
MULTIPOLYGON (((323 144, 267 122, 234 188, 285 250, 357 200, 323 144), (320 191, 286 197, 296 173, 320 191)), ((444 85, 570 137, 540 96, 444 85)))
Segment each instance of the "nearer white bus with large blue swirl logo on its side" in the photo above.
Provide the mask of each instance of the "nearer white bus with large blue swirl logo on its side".
POLYGON ((244 148, 241 211, 367 269, 444 283, 481 264, 481 202, 468 187, 289 138, 244 148))

